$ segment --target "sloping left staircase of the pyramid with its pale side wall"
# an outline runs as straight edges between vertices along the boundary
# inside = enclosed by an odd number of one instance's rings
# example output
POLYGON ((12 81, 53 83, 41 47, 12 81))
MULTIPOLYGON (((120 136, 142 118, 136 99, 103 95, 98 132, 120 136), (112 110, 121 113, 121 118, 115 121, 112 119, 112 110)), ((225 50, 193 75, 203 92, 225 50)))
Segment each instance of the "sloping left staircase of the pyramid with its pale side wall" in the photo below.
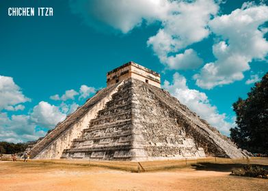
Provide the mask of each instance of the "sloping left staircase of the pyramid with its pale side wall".
POLYGON ((113 85, 99 91, 75 113, 59 123, 42 141, 34 145, 30 151, 31 158, 60 158, 62 151, 70 147, 72 140, 77 138, 89 121, 96 117, 96 113, 104 108, 111 95, 117 91, 117 87, 118 85, 113 85))

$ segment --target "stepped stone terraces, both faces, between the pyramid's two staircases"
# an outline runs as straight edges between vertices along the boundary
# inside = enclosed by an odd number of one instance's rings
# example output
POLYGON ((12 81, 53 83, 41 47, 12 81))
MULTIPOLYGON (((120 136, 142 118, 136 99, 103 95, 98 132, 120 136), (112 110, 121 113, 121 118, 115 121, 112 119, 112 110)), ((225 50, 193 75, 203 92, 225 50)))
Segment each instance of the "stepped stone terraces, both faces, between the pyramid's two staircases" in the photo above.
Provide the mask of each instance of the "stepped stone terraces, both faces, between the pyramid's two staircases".
POLYGON ((62 158, 154 160, 205 157, 182 123, 150 93, 147 84, 125 80, 96 119, 62 158))

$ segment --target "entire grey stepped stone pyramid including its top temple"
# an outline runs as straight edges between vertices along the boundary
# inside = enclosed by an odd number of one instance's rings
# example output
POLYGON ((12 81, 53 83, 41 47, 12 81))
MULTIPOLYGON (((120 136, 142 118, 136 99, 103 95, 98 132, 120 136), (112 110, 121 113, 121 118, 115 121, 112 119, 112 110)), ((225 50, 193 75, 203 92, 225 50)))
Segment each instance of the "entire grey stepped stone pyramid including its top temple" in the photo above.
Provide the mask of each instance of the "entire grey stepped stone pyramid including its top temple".
POLYGON ((29 153, 37 159, 135 161, 247 156, 161 89, 159 74, 133 62, 108 72, 107 87, 29 153))

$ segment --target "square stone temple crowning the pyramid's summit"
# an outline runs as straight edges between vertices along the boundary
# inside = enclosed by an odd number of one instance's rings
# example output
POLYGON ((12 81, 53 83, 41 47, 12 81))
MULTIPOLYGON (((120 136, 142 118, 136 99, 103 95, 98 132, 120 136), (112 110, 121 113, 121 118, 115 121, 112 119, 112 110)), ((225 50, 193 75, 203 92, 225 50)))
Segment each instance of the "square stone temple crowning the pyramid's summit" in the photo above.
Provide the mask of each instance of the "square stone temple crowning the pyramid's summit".
POLYGON ((160 74, 133 61, 107 72, 107 87, 119 83, 122 80, 126 80, 127 78, 135 78, 150 85, 161 87, 160 74))

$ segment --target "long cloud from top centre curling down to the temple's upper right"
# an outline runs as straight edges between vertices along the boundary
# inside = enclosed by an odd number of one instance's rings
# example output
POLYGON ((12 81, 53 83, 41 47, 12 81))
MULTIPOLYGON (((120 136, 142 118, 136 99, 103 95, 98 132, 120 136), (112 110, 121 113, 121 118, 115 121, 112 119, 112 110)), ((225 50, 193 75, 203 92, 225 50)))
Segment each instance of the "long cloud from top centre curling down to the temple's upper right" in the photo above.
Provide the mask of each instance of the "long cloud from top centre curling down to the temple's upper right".
POLYGON ((70 8, 85 24, 102 31, 110 27, 128 33, 142 22, 161 23, 157 34, 148 39, 148 46, 167 68, 185 70, 197 68, 202 60, 192 49, 179 51, 209 35, 207 25, 219 6, 213 0, 85 0, 70 1, 70 8))

